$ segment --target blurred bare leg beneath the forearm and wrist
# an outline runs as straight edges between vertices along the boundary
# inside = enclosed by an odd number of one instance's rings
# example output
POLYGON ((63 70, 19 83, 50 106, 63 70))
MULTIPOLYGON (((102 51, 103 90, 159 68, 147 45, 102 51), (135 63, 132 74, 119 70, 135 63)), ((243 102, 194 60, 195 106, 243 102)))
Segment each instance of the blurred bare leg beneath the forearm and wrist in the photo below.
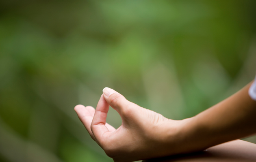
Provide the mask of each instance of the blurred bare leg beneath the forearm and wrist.
POLYGON ((255 162, 256 145, 235 140, 210 147, 205 151, 143 160, 142 162, 255 162))

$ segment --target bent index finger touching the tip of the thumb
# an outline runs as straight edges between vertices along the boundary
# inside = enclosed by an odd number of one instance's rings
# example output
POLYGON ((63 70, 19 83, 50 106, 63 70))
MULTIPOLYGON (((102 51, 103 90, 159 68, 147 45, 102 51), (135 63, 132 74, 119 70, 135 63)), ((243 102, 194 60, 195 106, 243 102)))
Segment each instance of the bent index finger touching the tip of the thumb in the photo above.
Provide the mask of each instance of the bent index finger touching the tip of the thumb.
MULTIPOLYGON (((102 143, 101 141, 104 141, 104 136, 110 134, 111 132, 106 127, 106 117, 109 109, 109 104, 104 99, 103 95, 100 97, 100 100, 98 102, 98 105, 96 107, 93 120, 91 122, 91 130, 93 132, 93 135, 98 141, 98 143, 102 143)), ((108 125, 109 128, 110 125, 108 125)), ((115 128, 114 128, 115 129, 115 128)), ((111 128, 111 131, 113 131, 113 128, 111 128)))

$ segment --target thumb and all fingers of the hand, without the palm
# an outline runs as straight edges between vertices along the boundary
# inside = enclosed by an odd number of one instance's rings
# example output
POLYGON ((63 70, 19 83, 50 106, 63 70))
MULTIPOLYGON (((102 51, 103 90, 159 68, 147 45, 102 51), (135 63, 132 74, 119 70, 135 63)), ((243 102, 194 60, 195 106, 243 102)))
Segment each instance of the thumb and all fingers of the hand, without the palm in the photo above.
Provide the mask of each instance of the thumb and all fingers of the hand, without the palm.
POLYGON ((109 106, 115 109, 122 117, 124 112, 129 109, 130 104, 132 102, 126 100, 124 96, 106 87, 103 89, 103 94, 100 97, 96 110, 93 107, 77 105, 75 111, 91 137, 98 141, 102 139, 103 135, 108 135, 115 131, 115 128, 106 123, 109 106))

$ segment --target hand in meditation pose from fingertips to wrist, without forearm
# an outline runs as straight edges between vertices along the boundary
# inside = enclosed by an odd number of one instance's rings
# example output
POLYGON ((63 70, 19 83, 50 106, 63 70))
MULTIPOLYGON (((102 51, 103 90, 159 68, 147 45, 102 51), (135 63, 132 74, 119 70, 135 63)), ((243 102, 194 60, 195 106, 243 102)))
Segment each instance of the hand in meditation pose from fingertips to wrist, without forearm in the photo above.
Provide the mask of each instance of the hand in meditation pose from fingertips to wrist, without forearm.
POLYGON ((184 120, 176 121, 134 104, 118 92, 104 88, 96 111, 77 105, 75 111, 91 135, 115 162, 131 162, 180 152, 178 132, 184 120), (106 123, 108 108, 115 109, 122 124, 115 129, 106 123))

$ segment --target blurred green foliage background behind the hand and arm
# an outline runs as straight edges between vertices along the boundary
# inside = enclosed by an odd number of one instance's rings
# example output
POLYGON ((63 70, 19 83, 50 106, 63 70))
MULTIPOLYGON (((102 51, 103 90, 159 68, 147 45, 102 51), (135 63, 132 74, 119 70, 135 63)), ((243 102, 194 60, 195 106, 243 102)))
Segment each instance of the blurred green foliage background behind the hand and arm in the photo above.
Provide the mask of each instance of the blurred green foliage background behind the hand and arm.
MULTIPOLYGON (((0 161, 111 162, 74 112, 96 107, 104 87, 171 119, 225 99, 255 77, 255 8, 255 0, 0 0, 0 161)), ((121 125, 113 109, 107 122, 121 125)))

